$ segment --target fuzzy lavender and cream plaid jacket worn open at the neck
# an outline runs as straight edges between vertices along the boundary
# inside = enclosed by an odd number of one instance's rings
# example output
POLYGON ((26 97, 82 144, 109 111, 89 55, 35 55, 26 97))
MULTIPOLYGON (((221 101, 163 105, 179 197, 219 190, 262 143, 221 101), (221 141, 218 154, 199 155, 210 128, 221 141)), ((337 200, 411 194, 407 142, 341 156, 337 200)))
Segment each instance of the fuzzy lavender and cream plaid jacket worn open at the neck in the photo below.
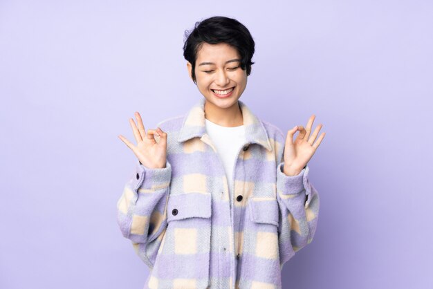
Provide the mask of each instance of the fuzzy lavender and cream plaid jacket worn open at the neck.
POLYGON ((308 165, 286 176, 285 136, 241 102, 246 143, 233 171, 205 130, 205 99, 158 123, 167 164, 136 169, 118 200, 117 221, 150 269, 145 288, 282 288, 283 264, 311 243, 319 195, 308 165))

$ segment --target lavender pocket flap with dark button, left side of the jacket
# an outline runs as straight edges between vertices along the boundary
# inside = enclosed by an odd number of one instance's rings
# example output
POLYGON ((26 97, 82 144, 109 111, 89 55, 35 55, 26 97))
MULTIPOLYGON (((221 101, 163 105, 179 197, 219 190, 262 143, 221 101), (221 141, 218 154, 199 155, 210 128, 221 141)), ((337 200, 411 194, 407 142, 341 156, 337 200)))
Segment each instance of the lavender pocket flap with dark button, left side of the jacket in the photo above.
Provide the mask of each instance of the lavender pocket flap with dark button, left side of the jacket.
POLYGON ((183 218, 210 218, 212 195, 203 193, 185 193, 169 195, 167 222, 183 218))

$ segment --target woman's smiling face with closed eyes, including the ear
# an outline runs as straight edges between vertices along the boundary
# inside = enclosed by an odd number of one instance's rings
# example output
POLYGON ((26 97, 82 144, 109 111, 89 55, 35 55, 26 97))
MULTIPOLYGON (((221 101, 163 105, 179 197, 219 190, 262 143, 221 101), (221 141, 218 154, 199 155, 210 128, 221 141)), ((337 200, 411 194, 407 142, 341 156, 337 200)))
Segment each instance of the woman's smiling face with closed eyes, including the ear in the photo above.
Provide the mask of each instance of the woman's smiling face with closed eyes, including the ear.
MULTIPOLYGON (((187 67, 191 77, 190 62, 187 62, 187 67)), ((237 104, 247 84, 239 53, 225 43, 203 43, 197 53, 195 74, 201 94, 221 109, 237 104)))

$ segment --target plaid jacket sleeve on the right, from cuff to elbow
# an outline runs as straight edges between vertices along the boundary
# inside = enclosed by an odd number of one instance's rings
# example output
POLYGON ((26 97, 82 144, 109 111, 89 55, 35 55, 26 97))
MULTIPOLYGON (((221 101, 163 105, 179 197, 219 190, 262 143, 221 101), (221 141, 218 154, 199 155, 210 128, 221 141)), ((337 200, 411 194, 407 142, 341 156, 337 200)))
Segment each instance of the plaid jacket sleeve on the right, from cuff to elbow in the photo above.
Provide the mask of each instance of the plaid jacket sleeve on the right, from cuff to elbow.
POLYGON ((297 176, 287 176, 283 160, 277 166, 281 266, 313 241, 319 214, 319 194, 308 180, 308 165, 297 176))

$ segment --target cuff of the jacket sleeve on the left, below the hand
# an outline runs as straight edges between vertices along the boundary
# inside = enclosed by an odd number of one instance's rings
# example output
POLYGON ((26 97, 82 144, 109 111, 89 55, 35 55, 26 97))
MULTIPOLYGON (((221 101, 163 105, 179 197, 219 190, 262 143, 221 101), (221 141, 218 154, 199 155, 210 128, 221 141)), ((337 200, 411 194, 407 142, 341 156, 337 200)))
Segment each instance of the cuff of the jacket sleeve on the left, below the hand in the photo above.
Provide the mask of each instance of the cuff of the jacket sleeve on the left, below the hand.
POLYGON ((167 160, 162 169, 149 169, 136 161, 136 169, 133 174, 133 187, 138 189, 157 190, 169 186, 172 178, 172 165, 167 160))

